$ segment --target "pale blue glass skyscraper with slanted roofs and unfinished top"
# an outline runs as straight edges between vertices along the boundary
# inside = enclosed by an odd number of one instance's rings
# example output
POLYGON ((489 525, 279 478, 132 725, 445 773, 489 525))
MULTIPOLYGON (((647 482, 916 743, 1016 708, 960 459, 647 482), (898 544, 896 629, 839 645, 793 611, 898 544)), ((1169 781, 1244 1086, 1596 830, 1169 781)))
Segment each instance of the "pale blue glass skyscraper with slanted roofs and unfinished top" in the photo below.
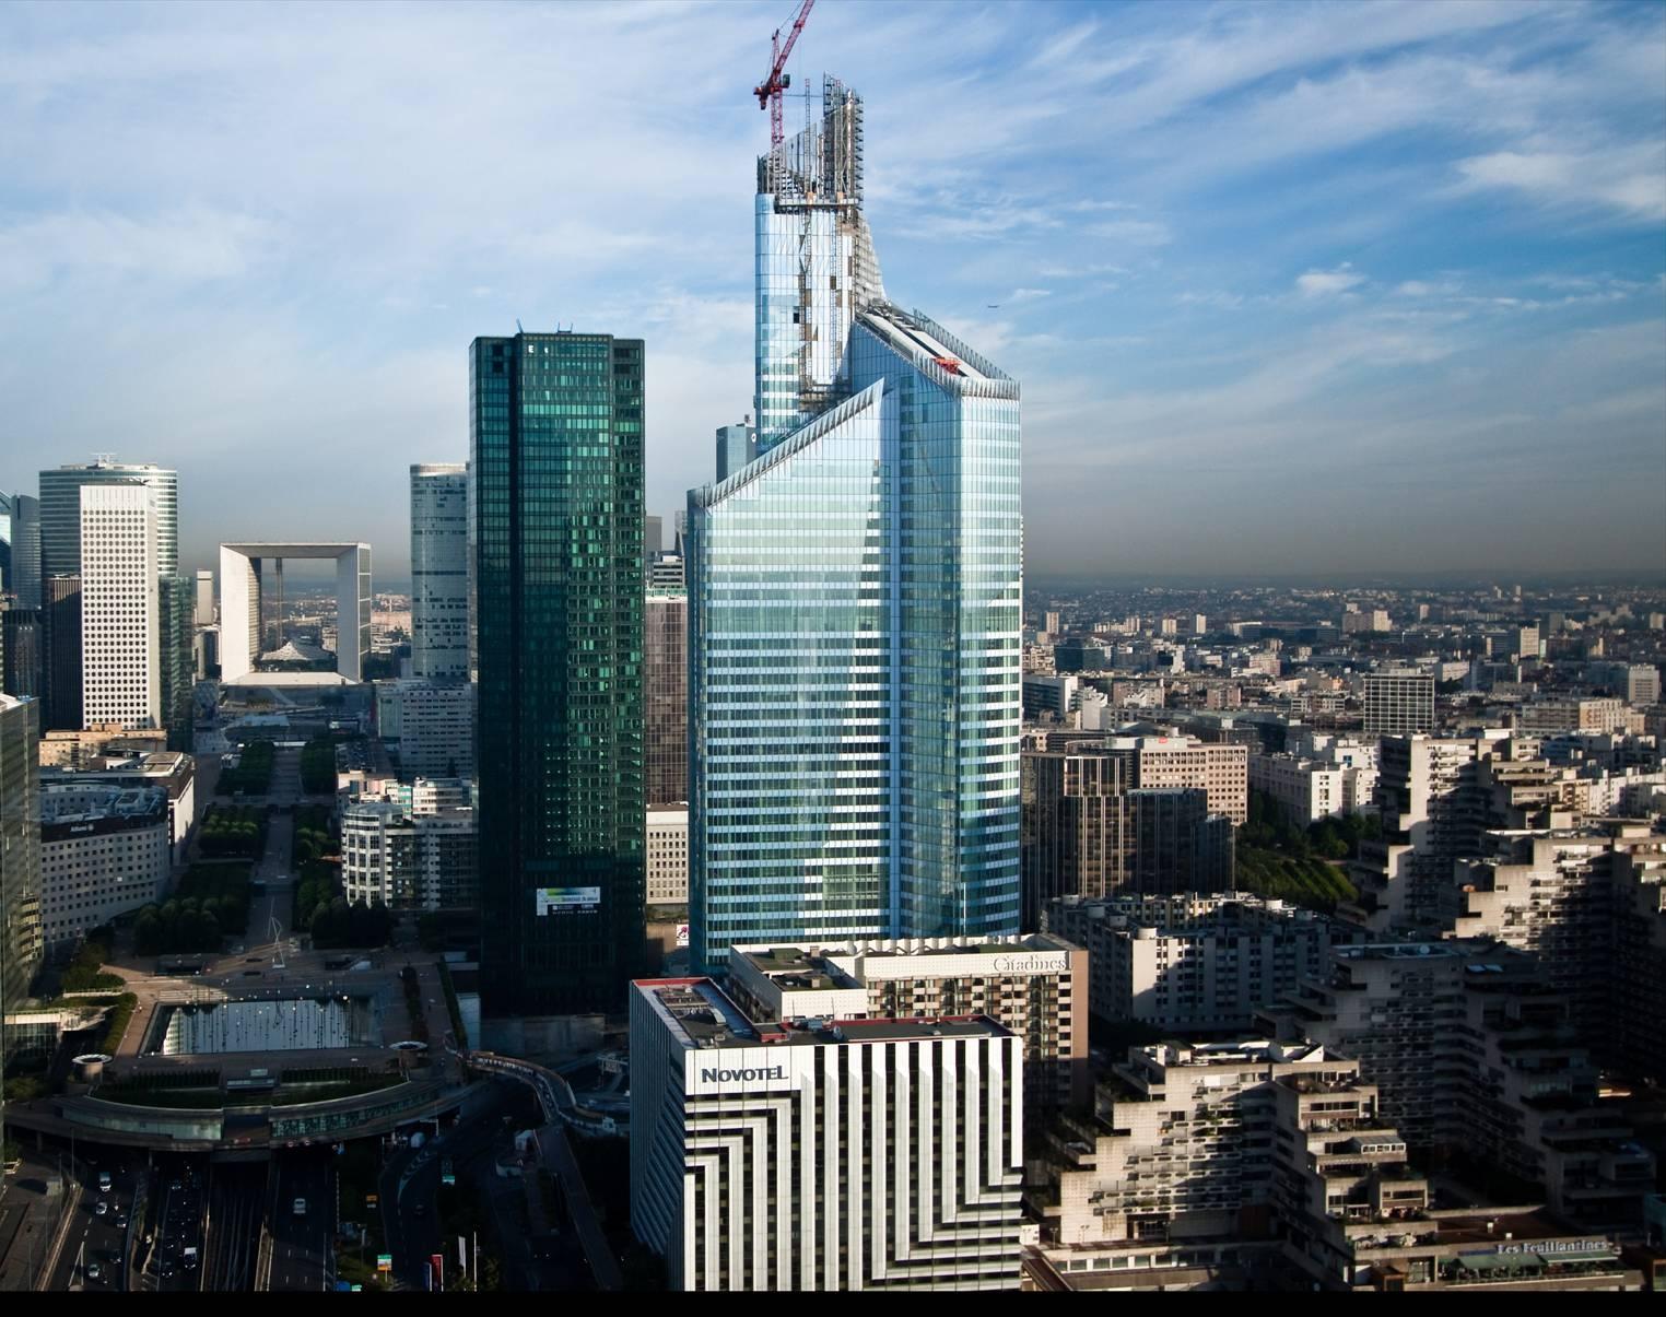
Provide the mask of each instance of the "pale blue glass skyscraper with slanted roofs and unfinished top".
POLYGON ((1016 934, 1018 385, 885 300, 850 88, 758 173, 760 456, 688 498, 695 961, 1016 934))

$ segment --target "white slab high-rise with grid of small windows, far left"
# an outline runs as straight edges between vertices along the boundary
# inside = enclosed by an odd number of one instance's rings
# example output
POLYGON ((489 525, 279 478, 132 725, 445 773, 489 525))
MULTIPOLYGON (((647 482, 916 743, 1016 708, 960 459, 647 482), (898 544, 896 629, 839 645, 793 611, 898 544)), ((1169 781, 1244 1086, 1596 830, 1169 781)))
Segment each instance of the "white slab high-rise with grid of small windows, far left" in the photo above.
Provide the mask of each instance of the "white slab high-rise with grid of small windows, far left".
POLYGON ((157 496, 145 485, 83 485, 82 718, 162 726, 157 496))

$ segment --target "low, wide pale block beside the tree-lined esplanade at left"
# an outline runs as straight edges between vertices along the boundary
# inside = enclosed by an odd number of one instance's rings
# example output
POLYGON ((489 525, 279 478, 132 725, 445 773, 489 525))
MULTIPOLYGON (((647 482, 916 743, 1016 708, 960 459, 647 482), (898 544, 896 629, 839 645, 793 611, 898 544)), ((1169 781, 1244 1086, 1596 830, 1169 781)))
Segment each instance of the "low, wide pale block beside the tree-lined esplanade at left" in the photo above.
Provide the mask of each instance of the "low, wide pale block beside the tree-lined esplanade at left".
POLYGON ((173 871, 172 854, 168 793, 162 788, 45 786, 40 917, 48 951, 160 901, 173 871))

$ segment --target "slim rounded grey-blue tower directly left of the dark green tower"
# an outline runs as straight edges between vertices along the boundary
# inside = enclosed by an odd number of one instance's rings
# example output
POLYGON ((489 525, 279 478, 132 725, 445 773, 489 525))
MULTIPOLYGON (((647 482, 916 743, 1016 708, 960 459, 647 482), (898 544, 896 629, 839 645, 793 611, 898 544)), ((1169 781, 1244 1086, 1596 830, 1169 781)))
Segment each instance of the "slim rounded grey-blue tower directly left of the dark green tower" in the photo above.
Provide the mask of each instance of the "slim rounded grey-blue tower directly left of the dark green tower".
POLYGON ((468 679, 468 468, 412 466, 412 676, 468 679))

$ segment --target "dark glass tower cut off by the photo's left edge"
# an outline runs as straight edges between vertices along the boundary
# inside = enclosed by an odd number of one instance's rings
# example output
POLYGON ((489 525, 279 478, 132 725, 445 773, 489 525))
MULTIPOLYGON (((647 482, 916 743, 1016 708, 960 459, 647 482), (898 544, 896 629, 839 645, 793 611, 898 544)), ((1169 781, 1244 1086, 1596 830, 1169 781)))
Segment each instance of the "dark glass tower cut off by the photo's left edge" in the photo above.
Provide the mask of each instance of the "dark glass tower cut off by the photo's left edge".
POLYGON ((40 703, 0 694, 0 1014, 40 969, 40 703))

